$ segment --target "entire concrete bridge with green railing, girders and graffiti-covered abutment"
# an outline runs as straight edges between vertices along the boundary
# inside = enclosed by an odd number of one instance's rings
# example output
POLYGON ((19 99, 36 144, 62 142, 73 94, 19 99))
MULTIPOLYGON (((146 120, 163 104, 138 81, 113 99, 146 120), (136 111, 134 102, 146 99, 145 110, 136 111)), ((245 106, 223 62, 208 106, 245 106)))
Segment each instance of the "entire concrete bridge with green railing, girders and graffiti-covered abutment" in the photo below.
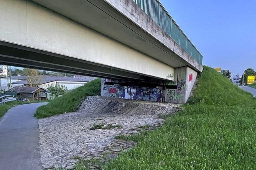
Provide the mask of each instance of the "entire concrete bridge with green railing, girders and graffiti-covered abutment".
POLYGON ((0 22, 1 64, 103 77, 106 96, 184 103, 203 69, 158 0, 0 0, 0 22))

